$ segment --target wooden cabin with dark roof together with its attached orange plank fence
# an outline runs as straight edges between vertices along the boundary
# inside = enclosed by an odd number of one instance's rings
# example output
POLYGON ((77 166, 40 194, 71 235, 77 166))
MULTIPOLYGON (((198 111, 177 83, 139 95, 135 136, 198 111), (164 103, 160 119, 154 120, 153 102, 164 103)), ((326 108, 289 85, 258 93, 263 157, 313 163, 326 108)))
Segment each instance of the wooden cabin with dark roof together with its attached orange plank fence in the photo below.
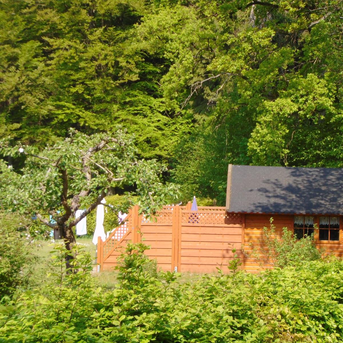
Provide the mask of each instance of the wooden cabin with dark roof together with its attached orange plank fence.
POLYGON ((235 248, 241 268, 257 272, 273 266, 263 235, 271 217, 273 237, 281 239, 283 227, 299 239, 313 234, 318 248, 343 256, 342 190, 340 168, 229 165, 225 207, 164 206, 150 221, 134 206, 104 242, 99 238, 97 262, 100 270, 113 268, 127 242, 143 237, 146 254, 164 270, 228 272, 235 248))

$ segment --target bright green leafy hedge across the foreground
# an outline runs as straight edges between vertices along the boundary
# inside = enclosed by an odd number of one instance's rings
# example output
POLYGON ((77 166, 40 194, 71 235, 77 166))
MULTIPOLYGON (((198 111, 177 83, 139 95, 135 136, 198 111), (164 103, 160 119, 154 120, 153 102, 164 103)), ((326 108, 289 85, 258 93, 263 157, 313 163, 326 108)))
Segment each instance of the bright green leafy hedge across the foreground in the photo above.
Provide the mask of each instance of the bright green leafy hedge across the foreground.
POLYGON ((173 273, 147 268, 145 248, 127 247, 118 285, 105 291, 96 287, 87 255, 79 252, 77 272, 68 274, 70 252, 57 247, 58 268, 47 284, 0 308, 0 342, 341 341, 340 260, 182 284, 173 273))

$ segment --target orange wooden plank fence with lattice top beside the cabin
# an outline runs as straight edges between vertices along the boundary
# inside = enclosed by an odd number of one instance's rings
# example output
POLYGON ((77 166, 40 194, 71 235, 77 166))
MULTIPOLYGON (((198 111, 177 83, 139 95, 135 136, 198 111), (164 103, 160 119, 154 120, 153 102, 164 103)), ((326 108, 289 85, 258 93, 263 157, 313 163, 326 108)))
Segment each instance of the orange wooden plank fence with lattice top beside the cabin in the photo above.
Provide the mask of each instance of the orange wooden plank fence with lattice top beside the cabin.
POLYGON ((100 270, 108 270, 117 263, 117 257, 130 240, 151 248, 146 255, 157 260, 158 267, 170 271, 213 272, 233 258, 232 248, 243 261, 244 228, 227 223, 225 207, 198 206, 191 211, 187 206, 164 206, 151 221, 139 215, 134 206, 125 223, 116 228, 103 242, 98 238, 97 263, 100 270))

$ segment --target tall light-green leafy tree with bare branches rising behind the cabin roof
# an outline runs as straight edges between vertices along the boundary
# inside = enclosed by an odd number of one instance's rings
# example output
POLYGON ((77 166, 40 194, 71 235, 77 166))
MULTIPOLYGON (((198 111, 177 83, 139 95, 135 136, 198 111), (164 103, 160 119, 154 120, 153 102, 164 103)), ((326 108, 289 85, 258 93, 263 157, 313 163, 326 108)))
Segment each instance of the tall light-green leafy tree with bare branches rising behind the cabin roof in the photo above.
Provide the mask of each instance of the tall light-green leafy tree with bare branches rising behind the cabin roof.
MULTIPOLYGON (((220 140, 222 180, 227 163, 342 166, 341 1, 168 6, 145 16, 139 30, 171 60, 161 80, 166 103, 192 114, 194 137, 212 131, 207 139, 220 140), (226 134, 217 135, 219 127, 226 134)), ((177 155, 176 181, 191 186, 184 171, 203 194, 217 193, 200 176, 205 169, 183 159, 192 153, 177 155)), ((202 156, 210 165, 212 154, 202 156)))

